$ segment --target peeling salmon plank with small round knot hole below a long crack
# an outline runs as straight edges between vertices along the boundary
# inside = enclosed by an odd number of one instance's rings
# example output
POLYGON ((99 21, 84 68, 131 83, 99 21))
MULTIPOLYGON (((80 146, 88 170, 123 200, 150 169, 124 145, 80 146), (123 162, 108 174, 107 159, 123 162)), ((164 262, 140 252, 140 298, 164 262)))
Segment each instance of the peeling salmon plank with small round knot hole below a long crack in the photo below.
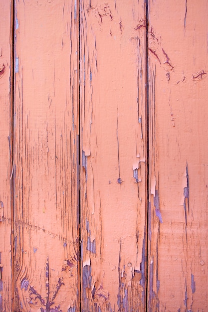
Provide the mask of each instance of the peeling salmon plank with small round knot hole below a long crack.
POLYGON ((81 311, 146 308, 143 1, 80 1, 81 311))

